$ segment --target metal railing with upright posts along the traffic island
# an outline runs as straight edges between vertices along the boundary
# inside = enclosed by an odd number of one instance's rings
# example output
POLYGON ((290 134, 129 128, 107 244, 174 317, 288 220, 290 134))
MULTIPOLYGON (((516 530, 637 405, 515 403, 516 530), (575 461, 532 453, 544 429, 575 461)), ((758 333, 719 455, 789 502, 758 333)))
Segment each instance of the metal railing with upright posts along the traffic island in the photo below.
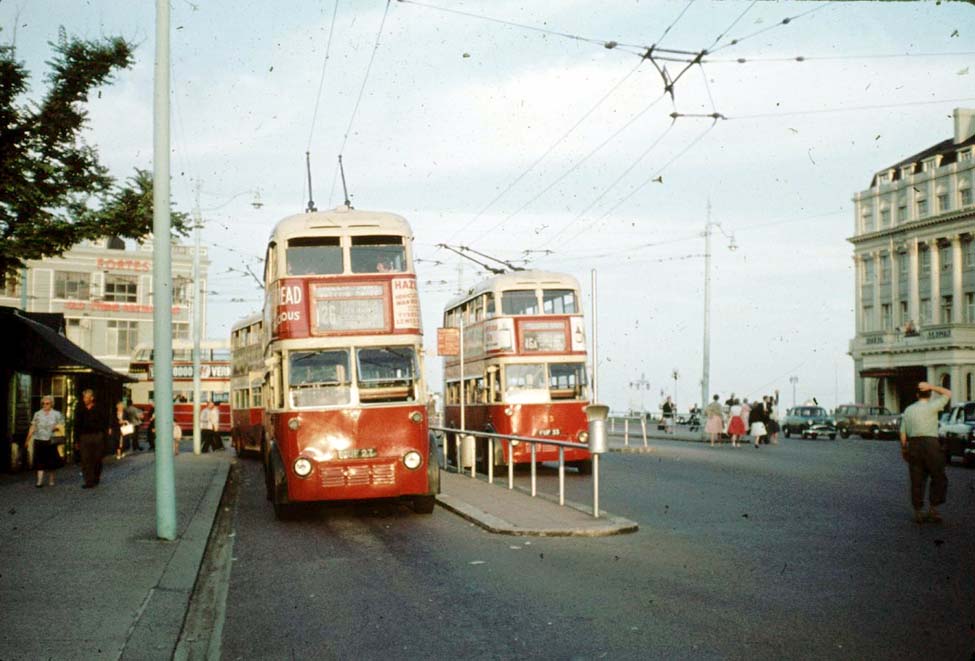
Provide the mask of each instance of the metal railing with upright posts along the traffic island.
MULTIPOLYGON (((452 427, 430 427, 430 430, 442 437, 444 470, 448 468, 447 443, 448 437, 453 435, 454 452, 457 458, 456 470, 464 473, 464 460, 461 457, 461 445, 464 437, 470 437, 473 442, 475 438, 487 439, 487 479, 488 484, 494 484, 494 442, 495 440, 508 440, 508 489, 515 488, 515 462, 514 446, 518 443, 531 444, 531 495, 534 498, 538 494, 537 466, 535 461, 536 447, 538 445, 555 445, 559 448, 559 505, 565 506, 565 448, 589 450, 589 446, 583 443, 573 443, 570 441, 557 441, 551 438, 534 438, 531 436, 516 436, 514 434, 496 434, 493 432, 476 431, 473 429, 454 429, 452 427)), ((470 461, 470 476, 477 477, 477 451, 470 461)), ((592 479, 593 479, 593 517, 599 518, 599 455, 592 453, 592 479)))

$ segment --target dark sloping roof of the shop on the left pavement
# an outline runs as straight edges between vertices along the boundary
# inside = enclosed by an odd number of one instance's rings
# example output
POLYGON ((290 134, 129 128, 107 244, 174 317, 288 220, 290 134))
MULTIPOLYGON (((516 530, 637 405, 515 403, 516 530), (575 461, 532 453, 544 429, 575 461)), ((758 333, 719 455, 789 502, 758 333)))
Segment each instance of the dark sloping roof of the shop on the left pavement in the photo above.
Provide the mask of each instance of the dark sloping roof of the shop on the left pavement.
POLYGON ((0 365, 18 372, 92 372, 118 381, 134 380, 17 308, 0 307, 0 337, 4 338, 0 365))

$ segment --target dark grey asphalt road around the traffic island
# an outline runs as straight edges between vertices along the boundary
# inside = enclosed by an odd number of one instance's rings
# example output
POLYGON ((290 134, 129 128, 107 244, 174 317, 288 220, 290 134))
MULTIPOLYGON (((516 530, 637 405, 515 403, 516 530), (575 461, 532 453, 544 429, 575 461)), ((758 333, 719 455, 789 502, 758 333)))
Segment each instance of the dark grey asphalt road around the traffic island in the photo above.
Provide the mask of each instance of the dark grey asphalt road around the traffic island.
POLYGON ((602 508, 640 530, 595 539, 389 503, 281 523, 245 460, 223 658, 972 658, 975 470, 918 526, 896 443, 651 445, 603 458, 602 508))

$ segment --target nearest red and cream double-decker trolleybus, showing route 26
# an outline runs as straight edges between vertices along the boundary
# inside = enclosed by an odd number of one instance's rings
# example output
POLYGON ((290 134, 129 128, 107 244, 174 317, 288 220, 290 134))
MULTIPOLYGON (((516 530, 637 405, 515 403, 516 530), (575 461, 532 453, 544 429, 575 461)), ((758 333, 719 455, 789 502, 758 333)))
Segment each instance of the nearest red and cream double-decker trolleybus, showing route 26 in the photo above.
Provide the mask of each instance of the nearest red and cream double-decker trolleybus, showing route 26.
POLYGON ((433 511, 412 233, 401 216, 339 207, 280 221, 265 264, 267 496, 403 498, 433 511))

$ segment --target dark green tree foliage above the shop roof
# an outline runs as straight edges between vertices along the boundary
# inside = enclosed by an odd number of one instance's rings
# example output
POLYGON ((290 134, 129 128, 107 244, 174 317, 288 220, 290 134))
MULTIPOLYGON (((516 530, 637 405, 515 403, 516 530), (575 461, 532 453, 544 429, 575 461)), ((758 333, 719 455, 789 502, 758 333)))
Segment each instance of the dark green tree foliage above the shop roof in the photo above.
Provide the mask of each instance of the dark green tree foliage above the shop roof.
MULTIPOLYGON (((62 33, 51 47, 49 89, 34 102, 20 101, 29 75, 13 46, 0 45, 0 284, 24 260, 61 255, 82 240, 152 232, 151 175, 136 169, 116 184, 81 135, 88 95, 132 65, 133 46, 62 33)), ((174 232, 186 234, 188 225, 173 213, 174 232)))

